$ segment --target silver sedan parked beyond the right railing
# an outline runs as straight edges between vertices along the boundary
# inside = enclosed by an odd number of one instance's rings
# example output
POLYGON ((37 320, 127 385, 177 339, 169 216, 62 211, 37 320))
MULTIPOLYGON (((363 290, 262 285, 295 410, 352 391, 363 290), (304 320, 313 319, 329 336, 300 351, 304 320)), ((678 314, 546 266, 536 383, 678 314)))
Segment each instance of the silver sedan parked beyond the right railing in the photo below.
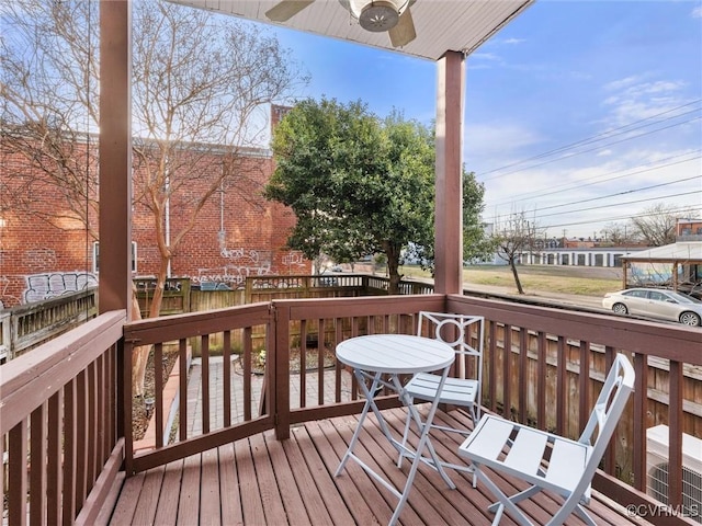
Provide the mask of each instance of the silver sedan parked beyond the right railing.
POLYGON ((660 288, 627 288, 608 293, 602 307, 618 315, 638 315, 686 325, 702 324, 702 301, 692 296, 660 288))

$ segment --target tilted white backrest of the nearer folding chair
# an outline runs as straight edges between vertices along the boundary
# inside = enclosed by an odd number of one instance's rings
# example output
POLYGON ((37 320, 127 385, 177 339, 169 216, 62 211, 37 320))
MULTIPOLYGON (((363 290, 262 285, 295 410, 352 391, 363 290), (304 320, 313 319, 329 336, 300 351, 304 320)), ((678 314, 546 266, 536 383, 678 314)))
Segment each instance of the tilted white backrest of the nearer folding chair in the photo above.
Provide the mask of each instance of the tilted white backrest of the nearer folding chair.
POLYGON ((616 423, 624 412, 629 397, 634 390, 635 376, 634 367, 629 358, 621 353, 618 354, 592 408, 588 423, 578 439, 582 444, 592 446, 592 453, 582 477, 584 481, 589 481, 595 476, 614 434, 616 423))

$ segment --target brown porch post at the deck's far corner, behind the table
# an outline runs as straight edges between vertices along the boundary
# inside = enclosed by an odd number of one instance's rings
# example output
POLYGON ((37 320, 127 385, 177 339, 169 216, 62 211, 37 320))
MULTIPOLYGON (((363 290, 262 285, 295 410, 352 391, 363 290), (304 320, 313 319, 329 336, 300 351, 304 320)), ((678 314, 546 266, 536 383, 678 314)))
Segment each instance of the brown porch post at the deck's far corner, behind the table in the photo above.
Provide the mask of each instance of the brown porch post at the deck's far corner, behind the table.
POLYGON ((439 59, 437 81, 437 201, 434 219, 434 290, 463 289, 463 99, 465 60, 446 52, 439 59))

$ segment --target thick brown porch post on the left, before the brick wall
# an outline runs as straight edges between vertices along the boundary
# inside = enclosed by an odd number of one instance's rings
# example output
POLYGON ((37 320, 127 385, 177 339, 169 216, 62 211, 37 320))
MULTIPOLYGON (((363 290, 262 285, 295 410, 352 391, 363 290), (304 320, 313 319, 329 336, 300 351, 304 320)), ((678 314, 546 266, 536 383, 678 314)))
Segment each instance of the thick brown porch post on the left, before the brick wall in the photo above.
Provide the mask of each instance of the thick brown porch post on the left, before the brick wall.
POLYGON ((100 2, 99 310, 132 309, 132 5, 100 2))

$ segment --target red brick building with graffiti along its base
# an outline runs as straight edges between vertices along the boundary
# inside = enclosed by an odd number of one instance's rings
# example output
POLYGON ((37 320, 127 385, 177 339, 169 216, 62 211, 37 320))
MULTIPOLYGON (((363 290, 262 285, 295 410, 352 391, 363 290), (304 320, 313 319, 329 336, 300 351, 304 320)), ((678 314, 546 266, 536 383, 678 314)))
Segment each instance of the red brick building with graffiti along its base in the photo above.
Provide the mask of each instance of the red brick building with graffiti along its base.
MULTIPOLYGON (((273 123, 284 110, 274 107, 273 123)), ((27 161, 0 148, 4 194, 0 208, 0 305, 9 308, 94 285, 100 275, 97 214, 88 214, 89 232, 84 222, 75 218, 60 187, 42 184, 27 161), (10 206, 13 194, 31 194, 34 214, 10 206)), ((91 155, 97 157, 97 151, 91 155)), ((90 165, 97 167, 94 161, 90 165)), ((222 170, 226 162, 231 159, 224 150, 210 151, 202 176, 192 179, 185 190, 171 198, 168 228, 173 233, 190 219, 189 197, 202 195, 207 170, 222 170)), ((273 170, 270 151, 247 149, 237 156, 236 164, 236 175, 226 179, 210 197, 194 228, 180 242, 170 275, 190 277, 194 285, 215 282, 236 288, 250 275, 308 274, 310 262, 285 248, 294 214, 261 195, 273 170)), ((137 195, 136 171, 133 182, 133 193, 137 195)), ((143 204, 135 203, 133 207, 132 229, 134 276, 156 275, 160 259, 155 219, 143 204)))

